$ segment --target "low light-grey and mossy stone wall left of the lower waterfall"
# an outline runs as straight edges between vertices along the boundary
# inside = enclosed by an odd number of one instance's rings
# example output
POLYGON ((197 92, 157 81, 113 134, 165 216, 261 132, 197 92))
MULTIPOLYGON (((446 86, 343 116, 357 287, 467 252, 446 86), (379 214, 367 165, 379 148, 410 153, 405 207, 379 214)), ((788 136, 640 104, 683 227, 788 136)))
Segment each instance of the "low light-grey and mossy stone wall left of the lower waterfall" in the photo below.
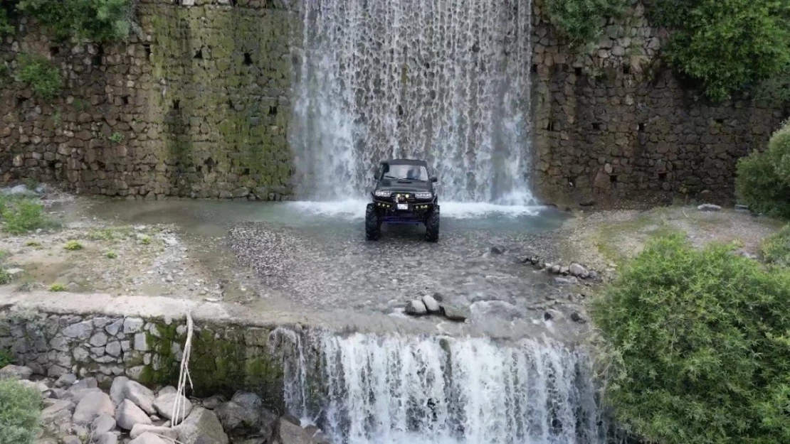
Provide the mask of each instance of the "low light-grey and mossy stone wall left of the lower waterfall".
MULTIPOLYGON (((195 396, 250 390, 283 411, 282 356, 276 335, 269 341, 265 328, 196 323, 189 364, 195 396)), ((148 386, 176 385, 185 343, 184 319, 0 311, 0 350, 52 378, 73 373, 108 386, 126 375, 148 386)))

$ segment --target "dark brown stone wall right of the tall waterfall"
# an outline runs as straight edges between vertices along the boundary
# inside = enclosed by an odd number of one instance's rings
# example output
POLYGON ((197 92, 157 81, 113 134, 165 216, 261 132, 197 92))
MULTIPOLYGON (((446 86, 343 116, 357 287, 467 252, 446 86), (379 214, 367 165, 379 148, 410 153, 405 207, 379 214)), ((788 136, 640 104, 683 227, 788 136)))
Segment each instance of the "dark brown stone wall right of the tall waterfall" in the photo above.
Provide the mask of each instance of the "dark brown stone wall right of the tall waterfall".
POLYGON ((563 203, 732 200, 737 159, 762 150, 790 103, 706 103, 656 57, 668 32, 638 3, 573 48, 534 5, 535 188, 563 203))

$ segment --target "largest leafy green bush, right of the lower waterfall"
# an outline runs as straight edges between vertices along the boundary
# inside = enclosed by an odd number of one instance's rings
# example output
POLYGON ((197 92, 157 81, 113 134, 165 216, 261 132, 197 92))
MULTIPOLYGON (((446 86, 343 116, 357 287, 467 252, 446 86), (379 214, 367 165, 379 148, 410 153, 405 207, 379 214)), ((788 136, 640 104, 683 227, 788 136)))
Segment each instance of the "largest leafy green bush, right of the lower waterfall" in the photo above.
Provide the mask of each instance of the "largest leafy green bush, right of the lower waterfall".
POLYGON ((661 237, 593 301, 606 398, 649 442, 790 442, 790 271, 733 248, 661 237))

